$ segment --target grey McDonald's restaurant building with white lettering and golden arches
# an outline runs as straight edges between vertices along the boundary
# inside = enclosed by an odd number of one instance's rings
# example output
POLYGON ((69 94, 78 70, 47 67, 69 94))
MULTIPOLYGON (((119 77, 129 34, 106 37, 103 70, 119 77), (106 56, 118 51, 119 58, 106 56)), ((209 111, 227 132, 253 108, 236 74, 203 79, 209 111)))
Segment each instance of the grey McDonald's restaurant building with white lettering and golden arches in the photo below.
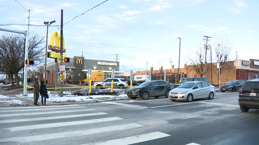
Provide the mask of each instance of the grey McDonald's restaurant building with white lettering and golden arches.
MULTIPOLYGON (((82 55, 83 56, 83 55, 82 55)), ((70 58, 70 62, 64 63, 65 72, 63 75, 65 76, 65 83, 67 83, 68 78, 71 77, 71 83, 77 84, 79 81, 84 79, 84 76, 87 74, 88 69, 100 70, 104 72, 104 78, 111 77, 112 70, 115 70, 115 76, 120 76, 124 72, 119 71, 119 62, 118 61, 108 61, 108 60, 93 60, 93 59, 85 59, 84 57, 74 56, 70 58)), ((56 65, 54 62, 50 62, 47 64, 47 83, 55 84, 55 73, 56 73, 56 65)), ((58 63, 58 84, 60 83, 60 72, 59 72, 59 63, 58 63)), ((83 82, 81 82, 83 83, 83 82)))

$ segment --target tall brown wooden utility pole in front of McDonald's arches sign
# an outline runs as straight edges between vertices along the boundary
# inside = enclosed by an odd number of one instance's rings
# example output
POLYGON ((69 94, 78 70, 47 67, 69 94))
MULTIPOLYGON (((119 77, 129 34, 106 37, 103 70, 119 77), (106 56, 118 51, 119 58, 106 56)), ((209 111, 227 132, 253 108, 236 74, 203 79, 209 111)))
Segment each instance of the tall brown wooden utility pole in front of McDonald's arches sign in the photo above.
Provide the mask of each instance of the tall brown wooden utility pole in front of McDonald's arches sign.
MULTIPOLYGON (((60 18, 60 65, 63 65, 63 9, 61 9, 61 18, 60 18)), ((63 71, 59 71, 59 72, 63 73, 63 71)), ((60 97, 63 97, 62 87, 63 87, 63 80, 60 80, 60 97)))

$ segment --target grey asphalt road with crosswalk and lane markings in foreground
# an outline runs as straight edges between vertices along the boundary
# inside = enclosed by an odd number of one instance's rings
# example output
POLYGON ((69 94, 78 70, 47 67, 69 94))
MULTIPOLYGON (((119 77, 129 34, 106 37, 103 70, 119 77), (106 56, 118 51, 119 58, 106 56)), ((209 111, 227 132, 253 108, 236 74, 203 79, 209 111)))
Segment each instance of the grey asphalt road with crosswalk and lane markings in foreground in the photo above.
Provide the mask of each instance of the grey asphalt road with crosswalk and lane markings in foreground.
POLYGON ((2 107, 0 143, 22 145, 257 145, 259 110, 238 92, 191 103, 165 97, 84 105, 2 107), (41 117, 41 118, 40 118, 41 117))

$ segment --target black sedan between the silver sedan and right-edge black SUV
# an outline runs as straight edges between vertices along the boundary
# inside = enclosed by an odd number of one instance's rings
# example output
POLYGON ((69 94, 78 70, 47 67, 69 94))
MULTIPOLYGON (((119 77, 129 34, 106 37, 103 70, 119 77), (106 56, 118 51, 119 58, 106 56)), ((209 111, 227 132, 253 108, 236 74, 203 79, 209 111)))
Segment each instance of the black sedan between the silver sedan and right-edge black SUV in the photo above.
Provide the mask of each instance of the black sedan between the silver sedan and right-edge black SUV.
POLYGON ((243 80, 232 80, 228 81, 225 85, 220 86, 220 91, 225 92, 225 91, 232 91, 236 92, 239 90, 243 85, 245 81, 243 80))

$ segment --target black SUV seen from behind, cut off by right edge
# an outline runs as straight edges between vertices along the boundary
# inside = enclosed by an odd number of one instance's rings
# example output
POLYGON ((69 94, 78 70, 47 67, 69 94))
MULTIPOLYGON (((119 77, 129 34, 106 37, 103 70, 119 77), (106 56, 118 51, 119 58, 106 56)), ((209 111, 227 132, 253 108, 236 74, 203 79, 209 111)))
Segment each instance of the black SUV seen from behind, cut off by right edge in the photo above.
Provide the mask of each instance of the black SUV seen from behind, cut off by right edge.
POLYGON ((245 81, 239 90, 238 104, 242 112, 259 109, 259 79, 245 81))

